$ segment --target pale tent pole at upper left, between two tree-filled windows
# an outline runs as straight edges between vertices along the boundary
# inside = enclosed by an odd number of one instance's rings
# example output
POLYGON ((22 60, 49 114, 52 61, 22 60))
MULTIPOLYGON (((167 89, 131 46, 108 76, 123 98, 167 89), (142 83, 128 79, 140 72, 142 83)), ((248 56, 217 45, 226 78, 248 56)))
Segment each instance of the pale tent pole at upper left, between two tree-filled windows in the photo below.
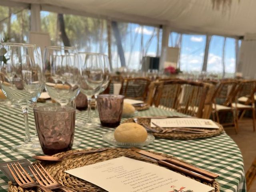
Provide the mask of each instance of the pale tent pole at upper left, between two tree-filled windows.
POLYGON ((31 4, 30 31, 33 31, 33 32, 41 31, 40 11, 41 11, 40 4, 31 4))

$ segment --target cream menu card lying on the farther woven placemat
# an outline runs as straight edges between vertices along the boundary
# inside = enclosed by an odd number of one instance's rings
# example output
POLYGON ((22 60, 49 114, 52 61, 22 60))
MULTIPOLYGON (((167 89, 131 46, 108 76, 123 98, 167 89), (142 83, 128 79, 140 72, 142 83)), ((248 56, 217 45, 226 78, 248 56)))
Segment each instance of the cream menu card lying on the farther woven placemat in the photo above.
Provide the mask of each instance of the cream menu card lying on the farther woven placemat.
POLYGON ((210 119, 200 118, 152 118, 150 121, 151 127, 156 127, 154 124, 160 127, 194 127, 194 128, 212 128, 218 129, 219 126, 210 119))

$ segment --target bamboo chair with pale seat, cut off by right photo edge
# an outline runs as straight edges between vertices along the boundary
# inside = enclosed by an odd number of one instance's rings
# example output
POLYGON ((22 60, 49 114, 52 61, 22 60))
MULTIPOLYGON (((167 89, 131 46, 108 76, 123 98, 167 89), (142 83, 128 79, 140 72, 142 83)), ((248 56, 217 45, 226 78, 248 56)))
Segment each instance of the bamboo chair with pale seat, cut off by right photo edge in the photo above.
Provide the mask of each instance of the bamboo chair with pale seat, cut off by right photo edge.
MULTIPOLYGON (((256 81, 255 80, 242 80, 237 86, 237 94, 233 98, 232 107, 235 108, 236 114, 240 114, 238 120, 242 120, 244 113, 249 110, 252 112, 252 126, 253 131, 255 131, 255 100, 254 93, 256 91, 256 81), (245 102, 239 102, 239 98, 247 98, 245 102)), ((238 122, 239 123, 239 122, 238 122)))

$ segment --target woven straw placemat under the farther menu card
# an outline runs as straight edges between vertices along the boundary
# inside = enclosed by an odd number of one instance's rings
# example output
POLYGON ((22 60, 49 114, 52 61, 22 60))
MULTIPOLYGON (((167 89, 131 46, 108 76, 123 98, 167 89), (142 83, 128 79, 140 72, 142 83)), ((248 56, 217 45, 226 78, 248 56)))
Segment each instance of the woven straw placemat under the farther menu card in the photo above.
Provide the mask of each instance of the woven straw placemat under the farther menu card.
MULTIPOLYGON (((132 120, 132 118, 124 121, 123 123, 130 123, 130 122, 134 122, 132 120)), ((139 118, 138 117, 138 123, 143 123, 147 126, 150 126, 150 118, 139 118)), ((219 129, 216 129, 216 131, 214 132, 208 132, 208 133, 182 133, 182 132, 170 132, 170 133, 152 133, 150 132, 150 134, 154 135, 156 138, 164 138, 164 139, 179 139, 179 140, 189 140, 189 139, 199 139, 199 138, 208 138, 208 137, 213 137, 216 135, 221 134, 222 132, 224 132, 224 129, 222 127, 222 125, 216 123, 219 126, 219 129)), ((157 128, 156 128, 157 129, 157 128)), ((198 128, 198 129, 202 129, 202 130, 209 130, 209 129, 204 129, 204 128, 198 128)))

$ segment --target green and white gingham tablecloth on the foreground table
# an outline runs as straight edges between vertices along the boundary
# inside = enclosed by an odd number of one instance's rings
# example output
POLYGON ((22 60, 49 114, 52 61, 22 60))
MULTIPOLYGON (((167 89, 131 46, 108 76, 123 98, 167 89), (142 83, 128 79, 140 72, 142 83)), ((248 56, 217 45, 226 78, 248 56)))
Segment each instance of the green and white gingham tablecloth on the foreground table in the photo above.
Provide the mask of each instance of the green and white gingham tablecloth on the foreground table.
MULTIPOLYGON (((87 112, 77 113, 78 120, 86 119, 87 112)), ((175 112, 159 108, 138 112, 138 116, 179 115, 175 112)), ((125 118, 122 119, 124 121, 125 118)), ((29 114, 30 130, 35 129, 32 110, 29 114)), ((114 147, 102 140, 102 134, 114 130, 112 128, 76 127, 75 140, 82 142, 74 149, 114 147)), ((27 158, 34 161, 30 155, 20 155, 11 151, 15 145, 24 140, 23 115, 19 108, 10 108, 0 104, 0 162, 27 158)), ((145 150, 162 152, 176 156, 200 168, 216 172, 222 192, 246 192, 244 164, 241 152, 235 142, 225 133, 212 138, 196 140, 167 140, 158 139, 154 143, 143 147, 145 150)), ((0 192, 8 189, 8 179, 0 172, 0 192)))

